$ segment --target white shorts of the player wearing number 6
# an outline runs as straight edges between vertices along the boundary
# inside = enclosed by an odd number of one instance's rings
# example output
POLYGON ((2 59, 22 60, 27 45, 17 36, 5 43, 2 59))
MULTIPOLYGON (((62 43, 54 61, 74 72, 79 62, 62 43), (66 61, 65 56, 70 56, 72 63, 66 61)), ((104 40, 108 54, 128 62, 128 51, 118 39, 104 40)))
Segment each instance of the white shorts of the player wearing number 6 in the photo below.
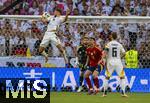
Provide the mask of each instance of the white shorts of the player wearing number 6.
POLYGON ((124 72, 121 60, 108 60, 107 61, 107 69, 106 69, 105 75, 107 77, 111 77, 114 71, 116 71, 119 77, 125 76, 125 72, 124 72))

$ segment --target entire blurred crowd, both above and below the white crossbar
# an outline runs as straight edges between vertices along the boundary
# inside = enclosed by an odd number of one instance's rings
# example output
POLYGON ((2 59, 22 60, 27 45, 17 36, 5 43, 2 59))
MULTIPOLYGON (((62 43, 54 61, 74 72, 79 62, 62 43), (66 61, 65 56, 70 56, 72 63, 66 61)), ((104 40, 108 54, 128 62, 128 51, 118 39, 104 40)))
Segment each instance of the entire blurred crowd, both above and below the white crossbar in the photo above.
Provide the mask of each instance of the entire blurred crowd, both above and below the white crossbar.
MULTIPOLYGON (((14 0, 0 0, 0 9, 14 0)), ((149 16, 150 0, 23 0, 6 14, 40 15, 53 14, 55 7, 62 8, 63 14, 69 8, 71 15, 138 15, 149 16)), ((0 20, 0 56, 32 56, 38 52, 40 42, 46 31, 46 24, 31 20, 0 20)), ((140 67, 149 66, 150 61, 150 23, 100 23, 68 22, 57 32, 68 57, 75 57, 82 36, 96 38, 96 43, 104 48, 112 32, 118 33, 126 50, 135 49, 139 53, 140 67)), ((46 49, 49 56, 61 56, 55 45, 46 49)))

